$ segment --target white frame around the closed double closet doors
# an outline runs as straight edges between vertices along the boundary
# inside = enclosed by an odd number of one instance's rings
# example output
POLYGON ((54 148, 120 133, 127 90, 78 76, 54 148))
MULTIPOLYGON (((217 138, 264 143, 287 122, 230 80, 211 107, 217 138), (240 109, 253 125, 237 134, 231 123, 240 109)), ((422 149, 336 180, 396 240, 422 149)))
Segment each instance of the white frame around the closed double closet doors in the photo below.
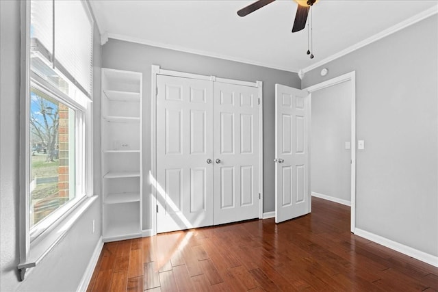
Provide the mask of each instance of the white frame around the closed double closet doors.
MULTIPOLYGON (((235 85, 244 85, 258 88, 259 93, 259 219, 263 219, 263 82, 240 81, 220 78, 216 76, 198 75, 188 72, 165 70, 159 65, 151 66, 151 170, 149 172, 149 184, 151 185, 151 228, 143 230, 143 237, 157 235, 157 75, 184 77, 199 80, 218 81, 235 85)), ((147 200, 144 200, 147 201, 147 200)), ((145 210, 145 209, 144 209, 145 210)), ((146 217, 146 216, 144 216, 146 217)))

